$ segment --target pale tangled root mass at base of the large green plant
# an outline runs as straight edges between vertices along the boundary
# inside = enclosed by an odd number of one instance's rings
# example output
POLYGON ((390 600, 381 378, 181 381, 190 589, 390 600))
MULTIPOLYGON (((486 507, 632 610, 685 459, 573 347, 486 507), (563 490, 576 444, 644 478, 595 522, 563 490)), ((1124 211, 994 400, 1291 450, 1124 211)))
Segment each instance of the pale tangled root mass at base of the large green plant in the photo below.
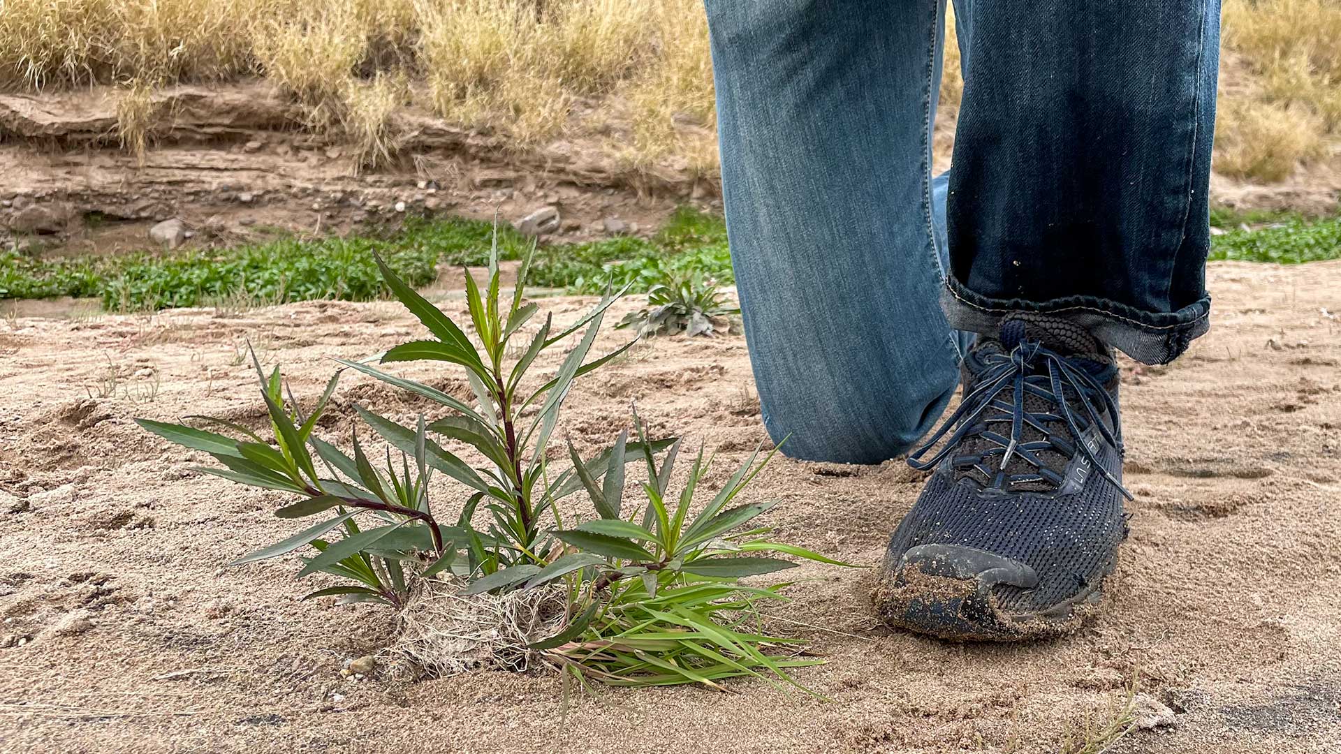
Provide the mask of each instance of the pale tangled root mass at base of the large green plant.
POLYGON ((468 597, 460 594, 463 586, 457 580, 424 580, 414 589, 390 648, 394 675, 524 671, 536 656, 527 645, 554 636, 567 623, 562 585, 468 597))

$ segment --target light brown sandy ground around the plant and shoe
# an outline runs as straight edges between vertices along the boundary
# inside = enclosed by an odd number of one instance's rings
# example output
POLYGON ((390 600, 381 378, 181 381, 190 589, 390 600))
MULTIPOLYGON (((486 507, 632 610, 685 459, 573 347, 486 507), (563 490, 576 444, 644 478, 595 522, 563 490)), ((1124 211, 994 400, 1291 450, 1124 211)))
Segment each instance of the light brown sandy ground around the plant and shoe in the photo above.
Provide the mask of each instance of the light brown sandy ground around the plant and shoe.
MULTIPOLYGON (((1207 337, 1175 365, 1125 370, 1136 502, 1098 617, 1043 644, 948 644, 878 627, 868 572, 807 565, 774 628, 830 657, 798 675, 831 702, 735 683, 565 707, 544 675, 345 680, 392 616, 299 602, 318 582, 294 582, 294 561, 224 568, 294 530, 271 515, 279 496, 186 471, 194 453, 131 417, 259 425, 244 338, 315 397, 326 357, 418 325, 392 303, 326 302, 0 321, 0 632, 27 639, 0 649, 0 750, 1057 751, 1137 678, 1143 703, 1175 714, 1114 751, 1338 751, 1341 263, 1214 264, 1210 287, 1207 337)), ((544 306, 563 319, 583 303, 544 306)), ((581 384, 561 432, 609 441, 630 400, 728 462, 764 439, 739 337, 642 347, 581 384)), ((430 409, 350 378, 326 437, 347 441, 354 402, 430 409)), ((917 490, 897 462, 780 460, 750 495, 782 500, 768 515, 787 539, 872 565, 917 490)), ((444 488, 439 504, 459 498, 444 488)))

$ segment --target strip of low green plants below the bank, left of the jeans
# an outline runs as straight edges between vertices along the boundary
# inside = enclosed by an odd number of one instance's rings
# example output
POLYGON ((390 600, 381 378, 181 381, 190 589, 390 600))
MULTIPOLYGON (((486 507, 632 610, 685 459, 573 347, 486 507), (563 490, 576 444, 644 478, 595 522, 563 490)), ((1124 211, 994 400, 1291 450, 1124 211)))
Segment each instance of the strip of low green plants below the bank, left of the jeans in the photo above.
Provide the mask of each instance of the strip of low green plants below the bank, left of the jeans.
MULTIPOLYGON (((369 301, 385 288, 371 252, 382 254, 414 287, 437 279, 437 267, 484 266, 495 225, 463 219, 410 219, 394 233, 279 237, 233 248, 129 255, 40 258, 0 252, 3 298, 98 298, 110 311, 201 306, 223 298, 286 303, 308 299, 369 301)), ((498 229, 499 259, 531 247, 510 227, 498 229)), ((539 247, 531 283, 599 294, 632 284, 646 291, 665 270, 701 271, 732 280, 725 227, 719 217, 681 209, 653 237, 614 237, 539 247)))

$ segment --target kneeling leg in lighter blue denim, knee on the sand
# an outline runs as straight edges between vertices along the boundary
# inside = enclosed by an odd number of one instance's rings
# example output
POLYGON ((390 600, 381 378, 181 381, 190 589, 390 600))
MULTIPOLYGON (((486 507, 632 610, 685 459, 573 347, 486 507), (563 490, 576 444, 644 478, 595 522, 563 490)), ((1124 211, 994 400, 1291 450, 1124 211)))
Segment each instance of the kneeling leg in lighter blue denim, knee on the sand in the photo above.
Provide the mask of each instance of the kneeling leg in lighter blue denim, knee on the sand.
POLYGON ((764 424, 794 457, 893 457, 959 377, 959 337, 937 306, 929 180, 943 5, 707 8, 727 231, 764 424))

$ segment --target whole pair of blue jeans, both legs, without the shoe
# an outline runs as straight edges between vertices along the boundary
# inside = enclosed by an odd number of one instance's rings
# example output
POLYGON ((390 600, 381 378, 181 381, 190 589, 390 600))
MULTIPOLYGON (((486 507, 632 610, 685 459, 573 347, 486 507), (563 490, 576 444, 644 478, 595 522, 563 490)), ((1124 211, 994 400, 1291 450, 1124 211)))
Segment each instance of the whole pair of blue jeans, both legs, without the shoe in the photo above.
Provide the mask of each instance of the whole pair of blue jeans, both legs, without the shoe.
POLYGON ((1148 364, 1207 329, 1219 0, 707 0, 732 263, 787 455, 915 444, 972 333, 1075 319, 1148 364))

